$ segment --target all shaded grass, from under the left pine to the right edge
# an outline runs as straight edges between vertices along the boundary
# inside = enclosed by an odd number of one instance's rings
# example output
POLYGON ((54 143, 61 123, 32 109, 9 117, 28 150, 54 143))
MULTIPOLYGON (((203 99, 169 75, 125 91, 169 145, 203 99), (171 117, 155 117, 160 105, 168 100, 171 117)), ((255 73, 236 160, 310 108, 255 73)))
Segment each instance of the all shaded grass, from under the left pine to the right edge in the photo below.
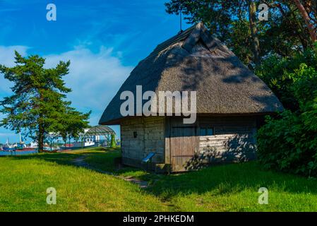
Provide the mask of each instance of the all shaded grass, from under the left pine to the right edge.
MULTIPOLYGON (((291 174, 282 174, 262 169, 256 162, 239 164, 216 165, 206 167, 195 172, 182 174, 154 174, 142 169, 123 167, 118 169, 114 165, 115 159, 120 157, 119 148, 110 150, 80 150, 78 153, 43 153, 39 155, 18 156, 14 159, 40 159, 56 162, 60 165, 74 165, 73 160, 85 155, 85 162, 92 167, 112 172, 123 177, 137 177, 149 181, 150 194, 169 199, 178 194, 205 194, 212 191, 217 194, 234 194, 245 189, 257 192, 261 187, 275 191, 293 194, 317 194, 317 181, 297 177, 291 174)), ((93 170, 93 169, 92 169, 93 170)))

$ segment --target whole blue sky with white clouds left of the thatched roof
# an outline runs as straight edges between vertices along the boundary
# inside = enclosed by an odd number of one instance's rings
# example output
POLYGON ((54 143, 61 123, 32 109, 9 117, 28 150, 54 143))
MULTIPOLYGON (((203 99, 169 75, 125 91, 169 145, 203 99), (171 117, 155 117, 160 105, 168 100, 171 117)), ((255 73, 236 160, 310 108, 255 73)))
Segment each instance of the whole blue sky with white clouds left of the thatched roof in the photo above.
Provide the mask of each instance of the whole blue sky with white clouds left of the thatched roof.
MULTIPOLYGON (((179 32, 179 17, 165 12, 166 1, 0 0, 0 64, 14 65, 14 49, 40 54, 47 67, 71 60, 68 100, 82 112, 91 109, 90 124, 96 125, 138 61, 179 32), (46 19, 49 3, 56 5, 56 21, 46 19)), ((11 94, 10 85, 0 75, 0 99, 11 94)), ((0 143, 7 138, 18 136, 0 128, 0 143)))

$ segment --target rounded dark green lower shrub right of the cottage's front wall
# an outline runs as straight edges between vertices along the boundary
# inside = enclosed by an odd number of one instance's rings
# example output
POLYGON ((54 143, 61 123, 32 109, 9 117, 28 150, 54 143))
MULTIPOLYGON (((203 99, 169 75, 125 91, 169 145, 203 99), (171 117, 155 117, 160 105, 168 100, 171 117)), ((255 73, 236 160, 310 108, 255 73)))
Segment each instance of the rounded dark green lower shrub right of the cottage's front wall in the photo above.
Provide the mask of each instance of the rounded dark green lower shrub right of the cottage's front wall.
POLYGON ((270 169, 316 177, 316 131, 308 130, 303 118, 289 110, 279 117, 267 117, 258 131, 259 160, 270 169))

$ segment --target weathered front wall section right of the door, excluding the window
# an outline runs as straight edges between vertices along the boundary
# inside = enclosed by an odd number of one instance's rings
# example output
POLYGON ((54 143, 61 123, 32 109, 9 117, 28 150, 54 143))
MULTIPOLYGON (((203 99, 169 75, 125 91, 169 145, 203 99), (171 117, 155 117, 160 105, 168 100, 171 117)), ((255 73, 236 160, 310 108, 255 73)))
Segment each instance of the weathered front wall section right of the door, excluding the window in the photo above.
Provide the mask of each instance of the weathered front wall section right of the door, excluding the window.
POLYGON ((214 136, 199 137, 198 154, 210 162, 241 162, 256 157, 255 117, 201 117, 198 124, 214 129, 214 136))

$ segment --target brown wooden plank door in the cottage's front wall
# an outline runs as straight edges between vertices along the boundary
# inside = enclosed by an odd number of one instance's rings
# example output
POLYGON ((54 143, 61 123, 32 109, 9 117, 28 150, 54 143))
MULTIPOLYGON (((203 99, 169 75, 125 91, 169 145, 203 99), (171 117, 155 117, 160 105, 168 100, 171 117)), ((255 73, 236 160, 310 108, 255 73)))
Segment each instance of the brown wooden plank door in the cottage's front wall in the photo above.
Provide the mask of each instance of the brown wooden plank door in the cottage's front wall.
POLYGON ((196 149, 196 127, 173 126, 171 131, 171 163, 173 171, 184 171, 196 149))

